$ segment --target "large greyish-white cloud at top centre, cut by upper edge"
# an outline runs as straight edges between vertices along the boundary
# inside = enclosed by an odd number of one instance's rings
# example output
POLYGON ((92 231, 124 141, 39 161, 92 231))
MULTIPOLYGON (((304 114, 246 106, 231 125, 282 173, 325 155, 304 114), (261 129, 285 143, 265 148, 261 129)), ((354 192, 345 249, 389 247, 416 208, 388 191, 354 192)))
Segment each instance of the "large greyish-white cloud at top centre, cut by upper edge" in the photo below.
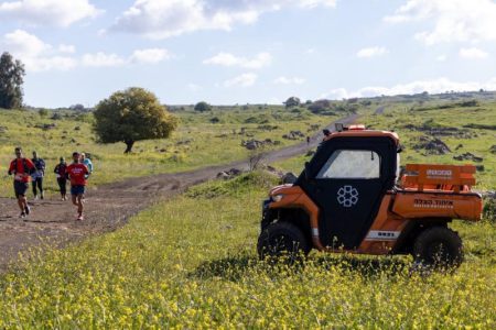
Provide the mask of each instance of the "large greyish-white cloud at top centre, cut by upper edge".
POLYGON ((165 38, 200 30, 229 31, 250 24, 259 15, 284 7, 332 8, 335 0, 136 0, 110 26, 110 31, 165 38))

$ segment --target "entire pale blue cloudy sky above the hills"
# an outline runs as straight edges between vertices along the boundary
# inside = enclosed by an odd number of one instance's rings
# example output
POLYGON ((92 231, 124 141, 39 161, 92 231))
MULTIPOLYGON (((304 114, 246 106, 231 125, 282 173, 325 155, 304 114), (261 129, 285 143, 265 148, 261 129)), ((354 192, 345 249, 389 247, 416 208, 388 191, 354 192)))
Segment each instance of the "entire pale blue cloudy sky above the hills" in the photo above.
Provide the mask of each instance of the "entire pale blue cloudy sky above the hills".
POLYGON ((0 0, 3 51, 39 107, 496 89, 496 1, 0 0))

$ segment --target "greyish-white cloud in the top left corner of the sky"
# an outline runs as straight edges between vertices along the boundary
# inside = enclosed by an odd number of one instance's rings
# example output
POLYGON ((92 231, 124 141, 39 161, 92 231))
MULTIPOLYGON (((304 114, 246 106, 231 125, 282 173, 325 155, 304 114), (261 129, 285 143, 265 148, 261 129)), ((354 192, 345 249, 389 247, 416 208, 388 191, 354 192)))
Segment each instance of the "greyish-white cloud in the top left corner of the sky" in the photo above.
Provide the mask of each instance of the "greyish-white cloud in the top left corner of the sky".
POLYGON ((101 11, 88 0, 19 0, 0 3, 0 19, 32 25, 68 26, 101 11))

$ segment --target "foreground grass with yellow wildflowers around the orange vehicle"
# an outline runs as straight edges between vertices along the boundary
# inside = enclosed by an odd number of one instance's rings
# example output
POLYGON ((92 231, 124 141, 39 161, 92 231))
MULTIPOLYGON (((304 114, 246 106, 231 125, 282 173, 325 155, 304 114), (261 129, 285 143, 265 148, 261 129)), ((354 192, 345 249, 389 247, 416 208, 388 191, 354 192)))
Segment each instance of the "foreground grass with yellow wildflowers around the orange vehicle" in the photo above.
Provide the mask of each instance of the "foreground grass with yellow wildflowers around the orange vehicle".
POLYGON ((410 274, 408 256, 321 253, 271 268, 255 246, 273 184, 260 174, 206 184, 117 232, 31 255, 0 277, 0 327, 496 327, 494 223, 453 223, 466 249, 453 275, 410 274))

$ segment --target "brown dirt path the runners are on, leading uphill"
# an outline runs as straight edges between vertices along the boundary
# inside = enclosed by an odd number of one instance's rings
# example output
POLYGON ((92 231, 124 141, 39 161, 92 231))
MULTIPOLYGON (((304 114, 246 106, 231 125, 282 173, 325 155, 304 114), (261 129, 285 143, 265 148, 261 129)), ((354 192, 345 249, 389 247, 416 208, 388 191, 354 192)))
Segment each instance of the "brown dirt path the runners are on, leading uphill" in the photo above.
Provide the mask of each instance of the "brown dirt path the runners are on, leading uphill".
MULTIPOLYGON (((341 119, 351 123, 357 116, 341 119)), ((333 129, 334 123, 328 125, 333 129)), ((306 142, 271 152, 268 162, 282 161, 315 147, 322 136, 315 134, 310 145, 306 142)), ((87 235, 114 231, 128 219, 149 207, 184 191, 187 187, 213 179, 222 170, 233 167, 247 169, 247 161, 209 166, 195 170, 161 174, 150 177, 127 179, 101 187, 89 186, 85 220, 76 222, 75 208, 68 201, 55 199, 30 201, 33 213, 25 220, 18 218, 19 209, 13 198, 0 198, 0 271, 4 270, 19 252, 29 246, 50 240, 57 244, 74 241, 87 235)))

